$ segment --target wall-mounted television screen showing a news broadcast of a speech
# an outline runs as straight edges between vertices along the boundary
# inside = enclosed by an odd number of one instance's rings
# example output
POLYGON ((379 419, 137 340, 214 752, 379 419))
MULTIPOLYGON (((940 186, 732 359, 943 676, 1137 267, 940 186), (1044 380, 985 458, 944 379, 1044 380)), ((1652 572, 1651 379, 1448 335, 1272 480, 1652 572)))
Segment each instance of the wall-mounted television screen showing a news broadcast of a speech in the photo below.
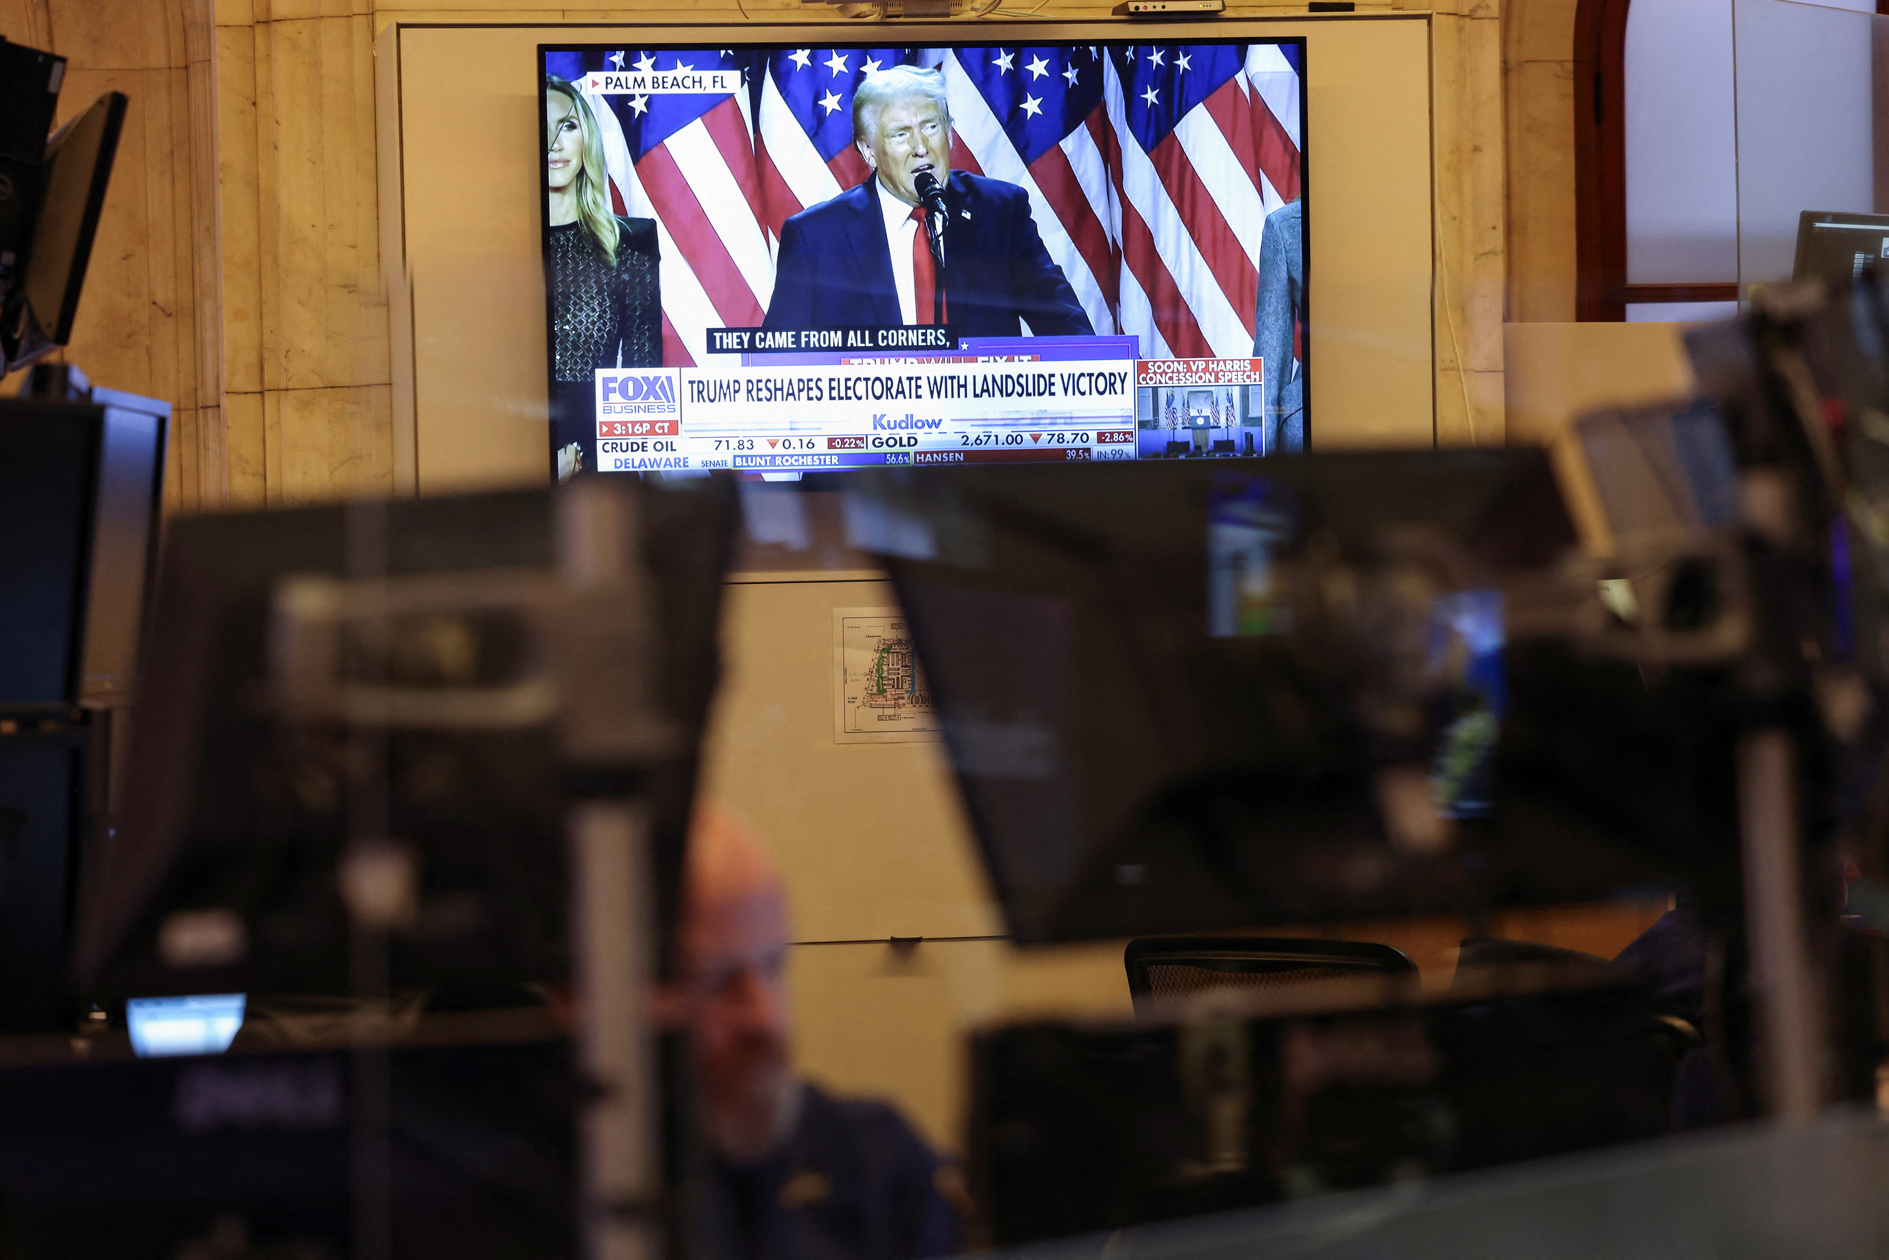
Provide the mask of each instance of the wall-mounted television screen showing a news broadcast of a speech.
POLYGON ((1302 40, 538 53, 559 476, 1303 450, 1302 40))

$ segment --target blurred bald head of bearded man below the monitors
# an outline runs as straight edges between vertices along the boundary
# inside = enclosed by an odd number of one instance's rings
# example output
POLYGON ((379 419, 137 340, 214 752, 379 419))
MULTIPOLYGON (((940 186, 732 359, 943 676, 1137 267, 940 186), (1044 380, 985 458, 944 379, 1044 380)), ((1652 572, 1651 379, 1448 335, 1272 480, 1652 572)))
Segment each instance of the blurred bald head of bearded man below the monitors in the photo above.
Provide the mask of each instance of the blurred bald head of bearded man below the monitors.
POLYGON ((712 807, 689 831, 678 945, 678 1014, 695 1047, 705 1130, 722 1156, 759 1160, 799 1101, 782 975, 788 912, 759 843, 712 807))

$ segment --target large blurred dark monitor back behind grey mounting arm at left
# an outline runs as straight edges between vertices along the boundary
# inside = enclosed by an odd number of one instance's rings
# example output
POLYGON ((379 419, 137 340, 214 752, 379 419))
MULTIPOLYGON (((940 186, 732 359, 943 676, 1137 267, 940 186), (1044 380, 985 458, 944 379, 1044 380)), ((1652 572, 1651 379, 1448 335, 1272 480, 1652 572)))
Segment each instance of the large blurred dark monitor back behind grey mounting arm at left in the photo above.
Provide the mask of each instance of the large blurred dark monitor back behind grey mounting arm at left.
MULTIPOLYGON (((735 495, 727 480, 699 478, 652 484, 638 497, 657 608, 652 673, 680 733, 676 752, 640 784, 667 916, 720 669, 735 495)), ((385 572, 485 584, 546 574, 553 563, 544 489, 174 521, 144 646, 125 803, 83 875, 83 992, 100 1001, 353 992, 336 865, 359 833, 363 792, 382 793, 378 826, 417 863, 417 914, 391 941, 395 990, 504 1005, 521 997, 519 984, 565 980, 567 778, 550 720, 387 729, 363 763, 368 754, 346 727, 283 718, 270 665, 272 606, 287 578, 385 572), (374 570, 361 569, 363 555, 374 570)), ((440 614, 395 659, 476 688, 538 659, 533 642, 502 616, 440 614)))

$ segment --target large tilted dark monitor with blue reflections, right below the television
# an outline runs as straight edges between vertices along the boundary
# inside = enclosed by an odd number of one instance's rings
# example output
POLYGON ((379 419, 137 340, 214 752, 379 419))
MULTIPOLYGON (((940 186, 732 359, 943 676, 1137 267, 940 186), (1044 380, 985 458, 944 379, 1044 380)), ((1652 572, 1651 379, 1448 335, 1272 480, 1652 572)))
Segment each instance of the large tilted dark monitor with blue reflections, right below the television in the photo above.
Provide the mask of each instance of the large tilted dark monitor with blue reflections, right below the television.
POLYGON ((1541 451, 846 476, 1018 941, 1608 897, 1698 843, 1666 693, 1506 633, 1574 548, 1541 451))

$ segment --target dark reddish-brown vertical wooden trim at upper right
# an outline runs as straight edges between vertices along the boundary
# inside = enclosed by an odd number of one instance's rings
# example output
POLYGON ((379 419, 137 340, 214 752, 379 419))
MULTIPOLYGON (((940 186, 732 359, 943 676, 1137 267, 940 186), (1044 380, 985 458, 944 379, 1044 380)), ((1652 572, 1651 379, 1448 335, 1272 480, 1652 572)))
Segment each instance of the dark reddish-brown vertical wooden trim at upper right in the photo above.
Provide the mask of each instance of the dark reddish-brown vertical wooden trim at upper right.
POLYGON ((1574 11, 1574 317, 1626 319, 1626 4, 1574 11))

